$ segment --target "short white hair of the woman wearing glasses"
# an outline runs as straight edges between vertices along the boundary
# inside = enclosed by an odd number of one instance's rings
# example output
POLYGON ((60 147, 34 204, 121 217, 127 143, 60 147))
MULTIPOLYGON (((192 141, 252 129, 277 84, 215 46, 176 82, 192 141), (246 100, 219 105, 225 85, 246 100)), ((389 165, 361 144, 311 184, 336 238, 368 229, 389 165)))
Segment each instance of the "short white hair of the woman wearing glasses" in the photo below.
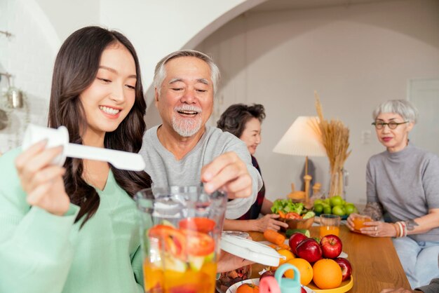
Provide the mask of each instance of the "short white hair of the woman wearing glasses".
POLYGON ((389 100, 380 104, 372 113, 372 118, 377 119, 381 113, 395 113, 403 117, 404 121, 416 123, 418 109, 407 100, 389 100))

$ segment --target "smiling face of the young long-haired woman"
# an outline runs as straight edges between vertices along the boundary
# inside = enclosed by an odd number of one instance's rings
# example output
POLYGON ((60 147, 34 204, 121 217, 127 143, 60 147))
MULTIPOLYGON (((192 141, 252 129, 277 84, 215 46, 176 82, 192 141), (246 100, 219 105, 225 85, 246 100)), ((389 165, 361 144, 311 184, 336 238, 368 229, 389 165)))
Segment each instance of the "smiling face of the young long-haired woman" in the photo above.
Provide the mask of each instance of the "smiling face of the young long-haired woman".
POLYGON ((121 43, 108 46, 95 80, 79 95, 88 124, 83 133, 104 135, 116 130, 133 107, 136 82, 133 55, 121 43))

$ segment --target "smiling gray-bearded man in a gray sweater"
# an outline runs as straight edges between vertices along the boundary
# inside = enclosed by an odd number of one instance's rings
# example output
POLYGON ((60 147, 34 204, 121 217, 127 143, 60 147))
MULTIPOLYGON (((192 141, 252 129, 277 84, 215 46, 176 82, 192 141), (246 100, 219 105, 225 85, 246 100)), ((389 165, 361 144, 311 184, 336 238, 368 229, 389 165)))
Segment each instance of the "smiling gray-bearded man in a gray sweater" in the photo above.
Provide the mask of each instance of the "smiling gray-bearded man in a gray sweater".
POLYGON ((226 217, 248 211, 262 187, 247 147, 229 132, 206 126, 219 69, 201 52, 180 50, 164 57, 154 74, 154 102, 162 124, 149 129, 140 154, 154 186, 198 185, 227 191, 226 217))

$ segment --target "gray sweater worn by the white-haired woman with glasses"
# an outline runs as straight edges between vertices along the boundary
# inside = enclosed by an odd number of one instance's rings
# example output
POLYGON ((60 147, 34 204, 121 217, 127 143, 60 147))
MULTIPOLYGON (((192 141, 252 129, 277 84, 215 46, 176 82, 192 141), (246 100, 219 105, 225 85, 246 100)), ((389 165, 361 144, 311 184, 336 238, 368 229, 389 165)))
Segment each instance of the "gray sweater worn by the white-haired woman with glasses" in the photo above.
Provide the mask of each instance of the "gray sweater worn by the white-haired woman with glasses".
MULTIPOLYGON (((412 144, 396 153, 372 156, 366 181, 367 202, 381 203, 392 222, 416 219, 439 208, 439 158, 412 144)), ((439 242, 439 228, 409 237, 439 242)))

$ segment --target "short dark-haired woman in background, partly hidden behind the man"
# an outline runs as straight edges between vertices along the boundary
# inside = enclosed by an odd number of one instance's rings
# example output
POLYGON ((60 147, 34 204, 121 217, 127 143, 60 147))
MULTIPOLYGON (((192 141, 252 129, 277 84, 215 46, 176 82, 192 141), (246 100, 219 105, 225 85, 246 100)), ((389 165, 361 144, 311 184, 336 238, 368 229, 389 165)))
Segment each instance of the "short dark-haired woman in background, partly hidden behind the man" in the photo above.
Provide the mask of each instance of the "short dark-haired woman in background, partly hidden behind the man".
MULTIPOLYGON (((253 155, 261 143, 261 123, 264 118, 265 110, 262 104, 253 104, 252 106, 233 104, 224 111, 217 121, 218 128, 230 132, 245 142, 252 156, 252 164, 259 173, 261 170, 253 155)), ((288 224, 276 220, 279 215, 271 213, 271 205, 273 203, 265 198, 265 186, 262 185, 262 189, 257 193, 257 199, 250 210, 236 220, 225 219, 224 230, 264 232, 266 229, 278 231, 281 226, 288 228, 288 224), (264 214, 264 217, 259 218, 259 213, 264 214)))

